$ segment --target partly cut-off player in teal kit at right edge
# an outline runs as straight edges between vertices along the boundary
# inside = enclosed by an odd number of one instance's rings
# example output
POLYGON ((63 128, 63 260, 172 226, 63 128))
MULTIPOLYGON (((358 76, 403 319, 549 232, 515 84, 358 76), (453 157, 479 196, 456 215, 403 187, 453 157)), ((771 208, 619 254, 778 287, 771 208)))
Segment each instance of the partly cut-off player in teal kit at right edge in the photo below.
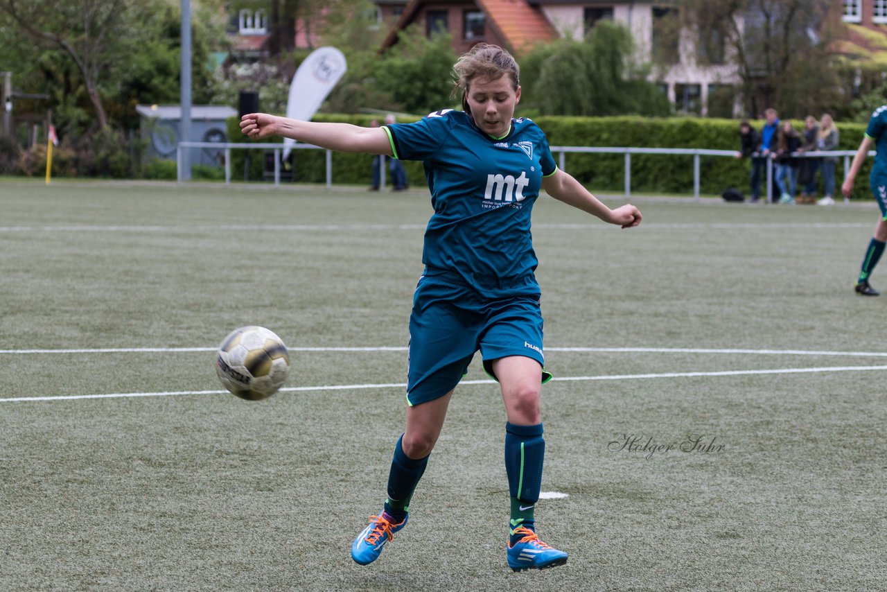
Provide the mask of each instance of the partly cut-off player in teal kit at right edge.
POLYGON ((875 113, 868 120, 868 127, 860 143, 860 149, 853 156, 850 170, 847 172, 847 177, 844 178, 844 184, 841 185, 841 193, 844 193, 844 197, 849 199, 850 194, 853 193, 853 183, 873 145, 877 154, 875 154, 875 165, 872 167, 868 182, 871 185, 872 193, 875 193, 875 201, 881 208, 881 219, 875 226, 875 235, 871 241, 868 241, 866 255, 862 257, 860 277, 856 280, 856 287, 853 288, 857 294, 862 296, 881 295, 881 292, 871 287, 868 278, 875 270, 878 260, 881 259, 884 243, 887 241, 887 105, 875 109, 875 113))

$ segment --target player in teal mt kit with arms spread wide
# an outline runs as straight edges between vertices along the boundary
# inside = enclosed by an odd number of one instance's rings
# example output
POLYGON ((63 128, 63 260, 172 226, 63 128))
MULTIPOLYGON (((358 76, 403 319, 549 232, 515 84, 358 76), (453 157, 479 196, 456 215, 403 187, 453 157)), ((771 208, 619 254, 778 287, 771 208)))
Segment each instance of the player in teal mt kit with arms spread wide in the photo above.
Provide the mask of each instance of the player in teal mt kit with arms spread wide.
POLYGON ((632 205, 609 209, 598 201, 558 170, 536 123, 513 118, 521 99, 519 72, 507 51, 479 44, 453 67, 464 111, 445 109, 419 122, 374 129, 269 114, 247 114, 240 122, 249 138, 279 134, 331 150, 424 162, 435 213, 410 317, 406 429, 395 446, 384 508, 351 546, 358 564, 375 561, 406 525, 452 393, 478 350, 506 407, 508 566, 522 571, 567 562, 565 552, 536 534, 545 454, 540 394, 551 375, 542 354, 530 212, 541 187, 623 228, 639 225, 641 217, 632 205))

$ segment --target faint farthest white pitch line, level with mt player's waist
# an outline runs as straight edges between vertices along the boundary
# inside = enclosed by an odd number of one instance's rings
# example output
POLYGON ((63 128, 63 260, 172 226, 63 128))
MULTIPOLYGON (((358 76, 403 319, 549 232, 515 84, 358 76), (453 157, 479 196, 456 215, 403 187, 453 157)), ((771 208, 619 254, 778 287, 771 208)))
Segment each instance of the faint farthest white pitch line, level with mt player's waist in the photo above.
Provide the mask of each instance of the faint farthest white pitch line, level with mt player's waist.
MULTIPOLYGON (((699 222, 699 223, 645 223, 639 226, 643 229, 678 229, 687 228, 712 228, 712 229, 748 229, 748 228, 868 228, 870 224, 863 222, 699 222)), ((608 225, 601 224, 534 224, 533 229, 546 230, 602 230, 610 229, 608 225)), ((224 232, 330 232, 330 231, 355 231, 355 230, 379 230, 379 231, 421 231, 425 230, 423 224, 352 224, 352 225, 69 225, 69 226, 0 226, 0 233, 180 233, 185 231, 224 231, 224 232)))

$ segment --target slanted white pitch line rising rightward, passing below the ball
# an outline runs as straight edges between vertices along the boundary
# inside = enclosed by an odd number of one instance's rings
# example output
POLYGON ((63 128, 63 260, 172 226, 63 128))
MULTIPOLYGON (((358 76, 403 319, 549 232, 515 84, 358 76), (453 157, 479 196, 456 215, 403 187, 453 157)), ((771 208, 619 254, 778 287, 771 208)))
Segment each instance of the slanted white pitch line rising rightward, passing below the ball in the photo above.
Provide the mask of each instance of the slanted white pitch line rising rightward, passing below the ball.
MULTIPOLYGON (((742 375, 791 375, 811 374, 827 372, 870 372, 875 370, 887 370, 887 366, 829 366, 811 368, 776 368, 765 370, 720 370, 714 372, 666 372, 640 375, 597 375, 597 376, 561 376, 552 379, 552 382, 588 382, 588 381, 616 381, 616 380, 642 380, 651 378, 692 378, 697 376, 742 376, 742 375)), ((468 384, 494 384, 492 380, 464 380, 460 386, 468 384)), ((371 383, 371 384, 336 384, 326 386, 304 386, 280 389, 281 392, 308 392, 308 391, 359 391, 366 389, 405 389, 406 383, 371 383)), ((117 392, 93 395, 62 395, 57 397, 18 397, 12 399, 0 399, 0 403, 13 403, 25 401, 59 401, 70 399, 125 399, 132 397, 170 397, 174 395, 217 395, 227 391, 169 391, 169 392, 117 392)))

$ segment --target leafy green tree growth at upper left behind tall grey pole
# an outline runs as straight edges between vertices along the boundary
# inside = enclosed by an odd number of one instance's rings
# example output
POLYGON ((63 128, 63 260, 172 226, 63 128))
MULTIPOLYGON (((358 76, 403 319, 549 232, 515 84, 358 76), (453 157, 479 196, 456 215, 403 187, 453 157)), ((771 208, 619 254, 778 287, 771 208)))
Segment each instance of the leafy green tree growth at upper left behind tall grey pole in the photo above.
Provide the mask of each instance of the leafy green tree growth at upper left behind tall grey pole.
MULTIPOLYGON (((218 7, 192 5, 196 102, 213 95, 209 57, 224 40, 218 7)), ((180 28, 179 0, 0 0, 0 31, 10 42, 0 45, 0 63, 23 91, 49 95, 60 136, 131 129, 137 103, 178 102, 180 28)))

